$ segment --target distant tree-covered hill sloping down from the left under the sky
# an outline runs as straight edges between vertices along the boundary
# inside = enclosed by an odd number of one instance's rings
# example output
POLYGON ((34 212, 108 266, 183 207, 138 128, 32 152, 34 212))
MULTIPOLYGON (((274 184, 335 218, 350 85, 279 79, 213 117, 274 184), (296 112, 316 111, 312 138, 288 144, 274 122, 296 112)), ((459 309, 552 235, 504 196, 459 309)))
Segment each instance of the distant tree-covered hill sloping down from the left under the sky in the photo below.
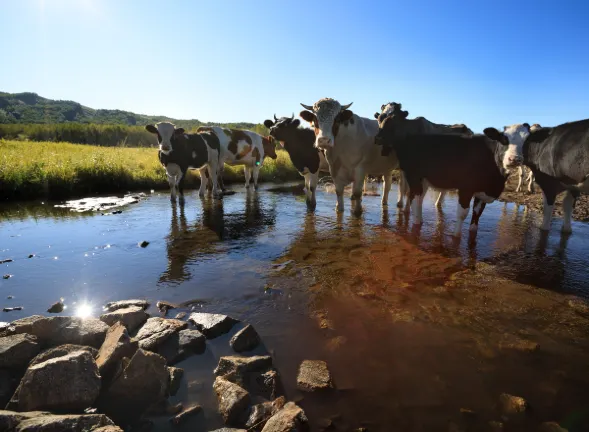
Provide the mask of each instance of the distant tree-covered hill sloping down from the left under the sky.
MULTIPOLYGON (((203 123, 199 120, 178 120, 164 116, 135 114, 129 111, 93 109, 74 101, 47 99, 36 93, 0 92, 0 124, 56 124, 93 123, 126 126, 144 126, 170 121, 186 129, 212 126, 220 123, 203 123)), ((253 129, 254 123, 231 123, 231 127, 253 129)))

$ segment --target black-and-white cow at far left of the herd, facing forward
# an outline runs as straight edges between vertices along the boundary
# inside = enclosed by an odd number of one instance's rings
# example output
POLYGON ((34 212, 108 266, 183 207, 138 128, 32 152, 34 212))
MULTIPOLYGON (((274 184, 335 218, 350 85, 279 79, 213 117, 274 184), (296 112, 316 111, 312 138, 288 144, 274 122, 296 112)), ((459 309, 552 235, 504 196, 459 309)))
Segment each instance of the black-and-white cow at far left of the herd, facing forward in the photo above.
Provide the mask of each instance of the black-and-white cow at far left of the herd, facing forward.
POLYGON ((218 189, 218 169, 220 144, 217 136, 210 132, 187 134, 183 128, 176 128, 173 123, 159 122, 147 125, 145 129, 157 135, 159 144, 158 157, 168 175, 170 200, 176 201, 176 188, 180 193, 180 203, 184 203, 184 181, 189 169, 200 171, 199 196, 206 191, 206 172, 213 182, 213 196, 220 197, 218 189))

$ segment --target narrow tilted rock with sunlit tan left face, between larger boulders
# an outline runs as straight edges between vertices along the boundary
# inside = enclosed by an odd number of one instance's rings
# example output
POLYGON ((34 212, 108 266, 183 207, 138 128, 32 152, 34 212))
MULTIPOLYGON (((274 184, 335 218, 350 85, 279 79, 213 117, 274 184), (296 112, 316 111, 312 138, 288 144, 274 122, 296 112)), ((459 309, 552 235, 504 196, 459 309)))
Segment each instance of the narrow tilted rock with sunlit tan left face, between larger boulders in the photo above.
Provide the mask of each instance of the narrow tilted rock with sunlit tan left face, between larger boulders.
POLYGON ((98 351, 96 364, 103 378, 108 381, 124 358, 132 358, 137 351, 137 341, 132 340, 127 329, 120 322, 115 323, 106 332, 104 343, 98 351))

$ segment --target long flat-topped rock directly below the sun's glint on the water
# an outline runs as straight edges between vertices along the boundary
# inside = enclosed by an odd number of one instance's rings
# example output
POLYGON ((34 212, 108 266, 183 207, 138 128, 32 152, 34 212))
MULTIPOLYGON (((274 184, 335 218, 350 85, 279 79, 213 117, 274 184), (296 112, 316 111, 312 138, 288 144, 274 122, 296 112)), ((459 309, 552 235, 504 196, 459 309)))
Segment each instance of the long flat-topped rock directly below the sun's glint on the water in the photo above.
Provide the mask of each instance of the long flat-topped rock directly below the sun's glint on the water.
POLYGON ((13 322, 8 330, 32 334, 45 346, 78 344, 99 348, 108 325, 96 318, 33 316, 13 322))

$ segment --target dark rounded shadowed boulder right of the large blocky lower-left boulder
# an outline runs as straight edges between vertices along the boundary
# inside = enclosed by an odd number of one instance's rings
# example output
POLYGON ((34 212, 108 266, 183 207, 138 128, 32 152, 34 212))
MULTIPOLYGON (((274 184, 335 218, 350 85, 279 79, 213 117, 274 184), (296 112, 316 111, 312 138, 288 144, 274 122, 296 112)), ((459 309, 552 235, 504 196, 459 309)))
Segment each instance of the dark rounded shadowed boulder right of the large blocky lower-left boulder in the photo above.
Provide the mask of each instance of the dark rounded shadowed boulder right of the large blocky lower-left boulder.
POLYGON ((98 406, 117 424, 137 420, 151 406, 168 396, 169 374, 166 360, 155 353, 138 349, 130 361, 123 360, 98 406))

